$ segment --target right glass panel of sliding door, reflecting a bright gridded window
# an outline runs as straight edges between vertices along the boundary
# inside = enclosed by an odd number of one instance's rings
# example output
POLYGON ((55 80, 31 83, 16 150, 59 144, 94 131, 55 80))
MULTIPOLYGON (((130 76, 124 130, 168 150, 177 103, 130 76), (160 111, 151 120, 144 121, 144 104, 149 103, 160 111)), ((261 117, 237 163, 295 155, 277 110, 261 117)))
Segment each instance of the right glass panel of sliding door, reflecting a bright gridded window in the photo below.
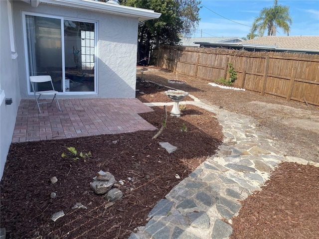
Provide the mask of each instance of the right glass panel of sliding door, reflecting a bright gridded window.
POLYGON ((94 23, 64 20, 65 91, 94 92, 94 23))

